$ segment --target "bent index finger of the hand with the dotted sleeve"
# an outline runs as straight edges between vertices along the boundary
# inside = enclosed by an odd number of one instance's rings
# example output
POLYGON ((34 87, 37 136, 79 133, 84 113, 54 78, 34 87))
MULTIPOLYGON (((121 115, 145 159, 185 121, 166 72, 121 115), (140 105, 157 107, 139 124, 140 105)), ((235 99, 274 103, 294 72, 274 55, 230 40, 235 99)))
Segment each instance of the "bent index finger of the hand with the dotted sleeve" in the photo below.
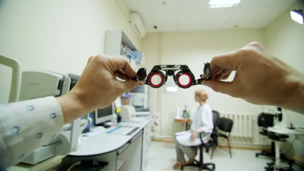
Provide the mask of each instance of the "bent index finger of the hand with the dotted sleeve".
MULTIPOLYGON (((136 77, 136 71, 132 68, 131 64, 128 60, 123 56, 113 56, 113 62, 115 63, 115 70, 121 69, 124 73, 126 73, 131 78, 136 77)), ((115 71, 113 70, 113 71, 115 71)))

